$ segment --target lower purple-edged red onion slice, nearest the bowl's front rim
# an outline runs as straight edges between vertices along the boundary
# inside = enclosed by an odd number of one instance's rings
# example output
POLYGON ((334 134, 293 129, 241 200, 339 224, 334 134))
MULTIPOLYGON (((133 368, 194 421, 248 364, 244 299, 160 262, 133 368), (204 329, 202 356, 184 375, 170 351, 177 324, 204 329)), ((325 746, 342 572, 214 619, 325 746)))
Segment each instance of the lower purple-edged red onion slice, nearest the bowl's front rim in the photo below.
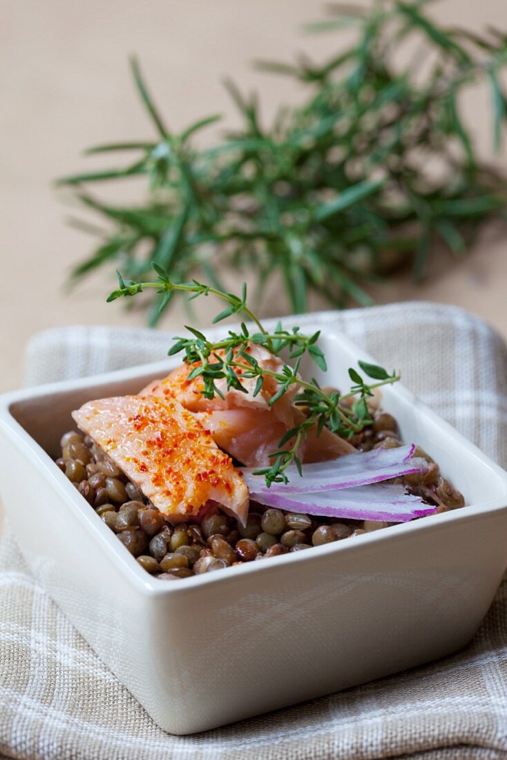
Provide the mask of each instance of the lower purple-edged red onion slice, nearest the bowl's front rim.
POLYGON ((433 515, 437 507, 424 504, 419 496, 405 493, 404 486, 360 486, 322 493, 281 494, 273 489, 251 492, 251 499, 306 515, 350 520, 407 522, 433 515))

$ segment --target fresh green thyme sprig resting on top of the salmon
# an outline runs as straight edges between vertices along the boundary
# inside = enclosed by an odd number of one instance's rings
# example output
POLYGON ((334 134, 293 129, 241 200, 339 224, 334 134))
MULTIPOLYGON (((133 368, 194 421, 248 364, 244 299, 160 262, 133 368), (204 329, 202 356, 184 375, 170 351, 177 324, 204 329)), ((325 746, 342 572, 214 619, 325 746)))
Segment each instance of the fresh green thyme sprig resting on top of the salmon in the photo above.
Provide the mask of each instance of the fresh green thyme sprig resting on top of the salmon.
POLYGON ((389 374, 382 367, 360 361, 360 369, 368 378, 376 382, 366 382, 356 369, 350 368, 349 375, 353 383, 350 392, 339 394, 338 391, 333 391, 328 394, 315 378, 305 380, 299 375, 299 366, 305 355, 309 356, 322 372, 327 370, 324 353, 318 346, 320 331, 306 335, 296 326, 291 330, 285 330, 280 322, 273 331, 268 331, 247 306, 246 284, 243 284, 242 295, 236 296, 234 293, 227 293, 199 283, 197 280, 190 283, 174 283, 170 280, 169 274, 158 264, 154 264, 154 269, 158 279, 147 282, 124 280, 117 272, 119 287, 112 291, 107 300, 114 301, 121 297, 136 296, 145 288, 156 288, 163 299, 172 297, 176 292, 187 293, 190 299, 214 295, 227 304, 226 308, 214 318, 214 323, 232 315, 245 315, 255 328, 252 330, 246 322, 242 321, 239 330, 229 330, 227 336, 220 340, 208 340, 204 333, 186 325, 190 337, 174 338, 175 343, 168 351, 169 356, 183 353, 185 363, 192 366, 188 379, 201 379, 201 393, 205 398, 213 399, 215 396, 223 398, 224 394, 217 385, 217 381, 223 380, 226 382, 227 391, 234 389, 241 393, 249 392, 244 385, 246 380, 255 380, 253 391, 255 397, 261 392, 265 378, 270 377, 274 379, 277 388, 268 400, 268 405, 272 407, 287 394, 290 388, 296 386, 294 403, 304 411, 302 420, 295 427, 287 430, 278 443, 277 450, 269 454, 273 459, 273 464, 256 470, 258 475, 265 476, 268 486, 271 483, 287 483, 286 470, 291 464, 296 465, 299 474, 302 473, 298 452, 310 429, 316 426, 320 435, 326 426, 337 435, 351 438, 372 421, 367 401, 375 388, 391 385, 400 378, 397 372, 389 374), (294 360, 293 366, 283 361, 279 370, 266 369, 255 356, 252 356, 250 352, 252 345, 265 347, 274 356, 280 356, 280 353, 285 350, 289 359, 294 360), (350 399, 353 399, 352 404, 344 403, 350 399))

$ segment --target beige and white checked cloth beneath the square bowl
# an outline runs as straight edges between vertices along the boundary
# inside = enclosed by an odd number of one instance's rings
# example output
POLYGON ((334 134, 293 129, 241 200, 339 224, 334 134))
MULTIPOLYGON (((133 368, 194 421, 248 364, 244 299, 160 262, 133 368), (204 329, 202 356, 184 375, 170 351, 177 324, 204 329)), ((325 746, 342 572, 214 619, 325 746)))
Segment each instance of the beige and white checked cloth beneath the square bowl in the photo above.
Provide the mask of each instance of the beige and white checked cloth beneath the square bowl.
MULTIPOLYGON (((417 303, 325 312, 297 322, 317 319, 343 329, 387 366, 401 367, 424 401, 507 464, 507 351, 482 321, 459 309, 417 303)), ((30 344, 27 382, 163 358, 167 344, 163 332, 50 331, 30 344)), ((472 644, 453 657, 179 737, 158 729, 93 654, 29 574, 7 529, 0 547, 2 752, 45 760, 506 758, 507 584, 472 644)))

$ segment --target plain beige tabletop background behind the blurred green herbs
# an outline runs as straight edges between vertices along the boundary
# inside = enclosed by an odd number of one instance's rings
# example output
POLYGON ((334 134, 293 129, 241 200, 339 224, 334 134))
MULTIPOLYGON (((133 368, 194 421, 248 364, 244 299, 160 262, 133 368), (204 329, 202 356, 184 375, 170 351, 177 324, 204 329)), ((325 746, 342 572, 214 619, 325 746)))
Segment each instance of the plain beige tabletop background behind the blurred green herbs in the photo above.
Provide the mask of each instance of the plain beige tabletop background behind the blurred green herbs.
MULTIPOLYGON (((66 226, 73 209, 51 186, 56 176, 96 166, 80 156, 90 144, 151 138, 128 55, 139 55, 174 128, 217 111, 234 123, 220 84, 224 74, 261 90, 268 117, 275 103, 297 97, 296 88, 252 71, 251 61, 288 59, 298 49, 318 58, 334 49, 334 36, 299 35, 303 21, 318 18, 320 8, 313 0, 3 0, 0 390, 20 384, 24 345, 36 330, 78 322, 142 323, 139 312, 106 306, 113 280, 105 273, 71 296, 65 293, 65 274, 91 241, 66 226)), ((507 27, 505 0, 448 0, 431 8, 448 23, 507 27)), ((486 94, 478 91, 465 106, 487 154, 485 103, 486 94)), ((420 290, 406 283, 388 287, 379 300, 417 296, 457 303, 507 335, 504 239, 505 230, 489 230, 466 261, 444 267, 420 290)), ((176 327, 179 321, 173 312, 165 324, 176 327)))

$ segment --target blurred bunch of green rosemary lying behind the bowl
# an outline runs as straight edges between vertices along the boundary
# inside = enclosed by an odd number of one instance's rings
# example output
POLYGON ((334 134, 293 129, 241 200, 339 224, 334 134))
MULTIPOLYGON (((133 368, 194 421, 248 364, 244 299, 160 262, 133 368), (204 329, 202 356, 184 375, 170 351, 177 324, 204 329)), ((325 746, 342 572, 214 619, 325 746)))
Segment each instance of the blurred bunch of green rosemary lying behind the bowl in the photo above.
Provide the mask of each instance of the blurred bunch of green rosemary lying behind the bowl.
MULTIPOLYGON (((218 289, 225 268, 252 273, 260 293, 277 273, 290 309, 304 312, 311 290, 336 306, 368 303, 369 282, 385 275, 393 258, 410 262, 420 279, 437 241, 464 252, 481 223, 505 212, 505 178, 478 160, 460 98, 471 84, 489 82, 499 150, 507 33, 443 28, 426 5, 332 5, 331 16, 309 31, 353 27, 351 46, 322 64, 260 64, 299 80, 306 102, 280 109, 265 125, 257 98, 229 82, 242 127, 206 150, 195 135, 220 117, 170 131, 132 62, 156 136, 91 148, 89 154, 134 158, 60 180, 109 222, 74 279, 108 262, 148 279, 153 261, 174 283, 203 275, 218 289), (402 65, 398 52, 407 46, 413 55, 402 65), (429 171, 433 164, 439 171, 429 171), (138 205, 109 204, 90 192, 99 182, 134 176, 146 180, 138 205)), ((151 302, 152 325, 162 297, 151 302)))

